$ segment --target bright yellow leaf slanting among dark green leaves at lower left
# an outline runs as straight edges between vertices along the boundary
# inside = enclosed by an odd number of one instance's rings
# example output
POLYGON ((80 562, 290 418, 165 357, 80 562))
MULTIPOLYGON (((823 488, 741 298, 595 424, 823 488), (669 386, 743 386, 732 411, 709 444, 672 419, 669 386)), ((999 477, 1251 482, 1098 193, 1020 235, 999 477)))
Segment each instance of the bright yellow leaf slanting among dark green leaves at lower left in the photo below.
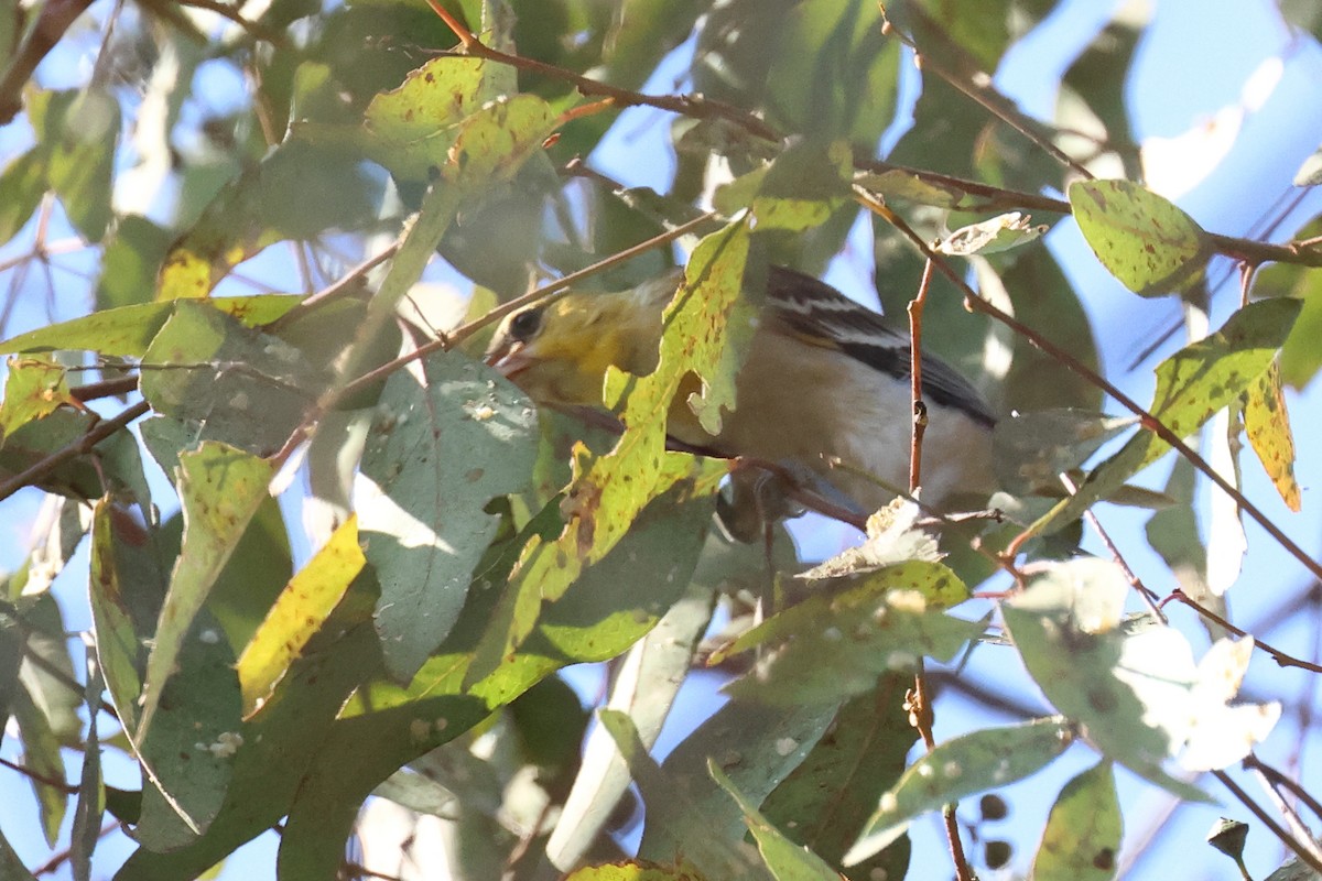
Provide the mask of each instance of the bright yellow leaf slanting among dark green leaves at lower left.
POLYGON ((275 600, 238 660, 243 715, 255 712, 344 598, 366 560, 350 516, 275 600))

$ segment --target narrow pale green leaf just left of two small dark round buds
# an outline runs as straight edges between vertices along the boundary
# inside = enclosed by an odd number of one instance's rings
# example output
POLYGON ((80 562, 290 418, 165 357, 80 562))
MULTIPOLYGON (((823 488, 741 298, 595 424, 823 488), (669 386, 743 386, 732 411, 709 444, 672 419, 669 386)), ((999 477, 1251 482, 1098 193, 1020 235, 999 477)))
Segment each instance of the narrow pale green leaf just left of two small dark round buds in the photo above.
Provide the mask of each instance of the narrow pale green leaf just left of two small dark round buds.
POLYGON ((1063 753, 1073 737, 1069 724, 1056 716, 984 728, 937 745, 882 796, 863 836, 845 855, 845 864, 854 865, 886 847, 920 814, 1036 773, 1063 753))

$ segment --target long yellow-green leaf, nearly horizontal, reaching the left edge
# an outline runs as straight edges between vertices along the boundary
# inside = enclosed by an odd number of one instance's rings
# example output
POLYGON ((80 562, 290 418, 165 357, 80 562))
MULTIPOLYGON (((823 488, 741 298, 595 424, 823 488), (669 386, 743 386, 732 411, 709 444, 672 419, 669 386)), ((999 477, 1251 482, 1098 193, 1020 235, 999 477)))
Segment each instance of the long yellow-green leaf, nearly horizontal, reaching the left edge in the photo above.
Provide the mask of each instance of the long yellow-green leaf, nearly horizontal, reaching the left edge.
MULTIPOLYGON (((275 321, 303 297, 259 295, 214 297, 206 302, 249 328, 275 321)), ((152 339, 175 314, 173 302, 147 302, 94 312, 82 318, 40 328, 0 343, 0 354, 87 350, 102 355, 141 358, 152 339)), ((194 306, 196 308, 196 306, 194 306)))

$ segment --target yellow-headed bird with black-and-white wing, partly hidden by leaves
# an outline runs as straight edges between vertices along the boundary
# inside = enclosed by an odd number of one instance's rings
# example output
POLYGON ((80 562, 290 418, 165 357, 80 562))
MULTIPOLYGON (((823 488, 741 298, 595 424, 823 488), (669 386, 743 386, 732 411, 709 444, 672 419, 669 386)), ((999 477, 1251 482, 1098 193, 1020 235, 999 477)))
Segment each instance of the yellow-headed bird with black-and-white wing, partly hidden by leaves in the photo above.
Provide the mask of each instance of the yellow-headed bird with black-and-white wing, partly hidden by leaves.
MULTIPOLYGON (((497 328, 486 362, 538 404, 600 408, 608 366, 636 375, 657 367, 662 312, 681 284, 674 269, 627 291, 570 289, 517 310, 497 328)), ((908 486, 908 333, 785 267, 768 267, 760 302, 719 433, 703 431, 681 391, 669 436, 715 456, 806 469, 865 514, 887 505, 908 486)), ((937 511, 961 498, 986 501, 997 416, 948 363, 927 353, 920 363, 928 415, 920 498, 937 511)))

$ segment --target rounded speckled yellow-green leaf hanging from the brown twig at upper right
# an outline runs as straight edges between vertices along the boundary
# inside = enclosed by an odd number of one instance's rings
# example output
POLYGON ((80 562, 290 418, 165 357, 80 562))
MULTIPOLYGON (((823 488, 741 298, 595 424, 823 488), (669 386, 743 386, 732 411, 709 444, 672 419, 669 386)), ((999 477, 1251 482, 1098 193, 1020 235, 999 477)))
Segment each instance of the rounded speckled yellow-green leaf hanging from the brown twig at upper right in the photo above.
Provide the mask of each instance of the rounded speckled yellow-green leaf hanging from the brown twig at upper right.
POLYGON ((1145 297, 1183 289, 1211 256, 1194 218, 1129 181, 1076 181, 1069 206, 1088 247, 1120 281, 1145 297))

